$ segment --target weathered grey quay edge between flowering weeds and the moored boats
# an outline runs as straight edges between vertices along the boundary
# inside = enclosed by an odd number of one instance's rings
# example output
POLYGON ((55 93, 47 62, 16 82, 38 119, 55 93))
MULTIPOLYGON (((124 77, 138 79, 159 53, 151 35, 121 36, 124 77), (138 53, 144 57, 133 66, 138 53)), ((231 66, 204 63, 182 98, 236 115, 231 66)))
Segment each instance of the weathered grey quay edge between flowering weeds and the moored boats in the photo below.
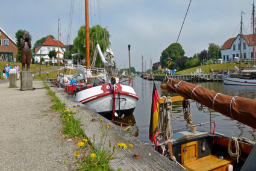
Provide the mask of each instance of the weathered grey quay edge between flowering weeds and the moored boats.
MULTIPOLYGON (((114 123, 110 122, 110 120, 105 119, 98 113, 90 110, 80 102, 77 102, 67 96, 61 90, 58 90, 56 87, 50 87, 50 89, 55 92, 56 96, 60 99, 61 102, 66 104, 67 108, 72 108, 75 106, 73 111, 78 111, 74 116, 77 119, 81 120, 81 124, 83 125, 81 128, 84 131, 84 134, 90 140, 93 140, 95 137, 95 148, 99 148, 101 141, 101 133, 102 128, 101 125, 109 125, 110 129, 108 131, 108 136, 106 138, 106 142, 111 140, 111 149, 113 145, 117 143, 125 143, 126 145, 133 144, 133 149, 127 151, 120 151, 117 154, 117 158, 115 160, 111 160, 110 167, 113 170, 122 169, 122 170, 182 170, 183 168, 173 163, 166 157, 163 157, 157 151, 155 151, 152 146, 145 145, 142 141, 138 140, 133 135, 129 134, 124 130, 120 130, 120 126, 114 125, 114 123), (104 121, 101 122, 100 119, 104 121), (92 122, 93 120, 93 122, 92 122), (89 126, 87 126, 89 124, 89 126), (139 159, 134 159, 133 154, 138 152, 140 154, 139 159), (125 157, 122 161, 120 158, 125 157)), ((108 149, 108 143, 105 143, 105 148, 108 149)))

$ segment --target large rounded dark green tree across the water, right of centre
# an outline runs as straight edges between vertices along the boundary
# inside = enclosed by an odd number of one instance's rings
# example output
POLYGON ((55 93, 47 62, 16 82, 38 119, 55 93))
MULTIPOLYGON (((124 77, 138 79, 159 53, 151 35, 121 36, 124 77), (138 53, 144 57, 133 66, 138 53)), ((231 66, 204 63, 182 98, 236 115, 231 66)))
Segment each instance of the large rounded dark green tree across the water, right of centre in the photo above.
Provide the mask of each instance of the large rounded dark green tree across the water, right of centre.
POLYGON ((167 67, 169 64, 170 58, 172 58, 171 68, 176 66, 175 61, 176 59, 183 57, 185 51, 180 43, 172 43, 169 45, 164 51, 161 53, 160 63, 162 67, 167 67))

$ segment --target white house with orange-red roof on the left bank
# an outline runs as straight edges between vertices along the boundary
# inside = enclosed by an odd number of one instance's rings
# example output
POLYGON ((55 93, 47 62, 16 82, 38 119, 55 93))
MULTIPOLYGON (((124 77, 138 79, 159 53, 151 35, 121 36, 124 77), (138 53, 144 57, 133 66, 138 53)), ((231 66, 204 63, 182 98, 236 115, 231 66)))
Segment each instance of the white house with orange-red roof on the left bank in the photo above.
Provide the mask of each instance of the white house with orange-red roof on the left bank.
POLYGON ((58 54, 60 54, 60 62, 63 62, 63 55, 64 55, 64 52, 66 51, 66 46, 63 45, 63 43, 61 43, 60 41, 59 41, 59 44, 60 44, 60 51, 58 51, 58 40, 54 40, 52 39, 52 37, 48 37, 45 43, 35 48, 35 52, 34 52, 35 63, 40 62, 40 55, 41 55, 41 58, 43 58, 46 62, 52 61, 52 63, 57 63, 58 54), (55 50, 57 52, 57 56, 56 58, 50 59, 48 54, 49 54, 49 51, 52 51, 52 50, 55 50))

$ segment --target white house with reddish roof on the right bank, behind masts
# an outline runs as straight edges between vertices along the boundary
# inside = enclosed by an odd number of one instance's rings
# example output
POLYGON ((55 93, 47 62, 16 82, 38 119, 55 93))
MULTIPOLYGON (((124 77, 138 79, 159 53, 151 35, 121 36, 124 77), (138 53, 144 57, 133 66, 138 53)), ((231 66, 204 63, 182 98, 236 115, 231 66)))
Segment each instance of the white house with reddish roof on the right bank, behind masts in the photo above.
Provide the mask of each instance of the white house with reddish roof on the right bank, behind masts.
MULTIPOLYGON (((229 60, 239 60, 240 59, 240 34, 237 37, 230 38, 226 40, 223 46, 220 48, 221 57, 223 63, 228 62, 229 60)), ((242 58, 246 59, 246 61, 252 61, 253 58, 253 41, 255 41, 255 37, 253 34, 242 34, 242 58)), ((256 48, 255 48, 256 51, 256 48)), ((256 53, 255 53, 256 54, 256 53)), ((256 58, 256 55, 255 55, 256 58)))

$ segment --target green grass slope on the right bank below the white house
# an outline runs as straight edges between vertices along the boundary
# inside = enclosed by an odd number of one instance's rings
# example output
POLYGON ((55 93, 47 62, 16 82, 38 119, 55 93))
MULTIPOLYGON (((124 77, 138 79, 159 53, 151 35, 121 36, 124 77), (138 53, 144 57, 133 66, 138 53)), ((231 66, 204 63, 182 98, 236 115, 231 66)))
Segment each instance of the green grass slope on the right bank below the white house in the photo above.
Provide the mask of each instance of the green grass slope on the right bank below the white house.
MULTIPOLYGON (((246 66, 251 67, 251 63, 241 63, 241 67, 246 67, 246 66)), ((234 70, 234 66, 237 66, 239 68, 239 63, 231 63, 229 69, 234 70)), ((192 67, 189 69, 184 69, 176 72, 176 74, 182 75, 183 72, 196 72, 196 69, 201 68, 202 72, 209 73, 209 65, 203 65, 203 66, 197 66, 197 67, 192 67)), ((228 69, 228 63, 223 63, 223 64, 210 64, 210 69, 213 70, 226 70, 228 69)))

